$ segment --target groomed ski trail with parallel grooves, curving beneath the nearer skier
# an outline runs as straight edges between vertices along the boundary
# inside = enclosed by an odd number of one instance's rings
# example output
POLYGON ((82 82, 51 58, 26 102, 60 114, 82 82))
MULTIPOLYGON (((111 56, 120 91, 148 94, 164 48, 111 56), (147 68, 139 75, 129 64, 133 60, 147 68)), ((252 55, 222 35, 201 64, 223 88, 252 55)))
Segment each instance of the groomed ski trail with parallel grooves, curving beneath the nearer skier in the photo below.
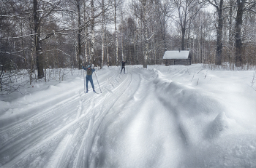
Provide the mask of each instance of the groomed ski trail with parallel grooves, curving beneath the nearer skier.
MULTIPOLYGON (((99 81, 101 95, 93 92, 85 95, 79 91, 45 110, 35 107, 39 110, 36 114, 32 112, 35 108, 28 108, 26 121, 20 119, 2 127, 0 166, 88 167, 92 144, 102 120, 132 82, 132 74, 115 71, 109 71, 108 79, 99 81)), ((95 80, 94 85, 98 89, 95 80)))

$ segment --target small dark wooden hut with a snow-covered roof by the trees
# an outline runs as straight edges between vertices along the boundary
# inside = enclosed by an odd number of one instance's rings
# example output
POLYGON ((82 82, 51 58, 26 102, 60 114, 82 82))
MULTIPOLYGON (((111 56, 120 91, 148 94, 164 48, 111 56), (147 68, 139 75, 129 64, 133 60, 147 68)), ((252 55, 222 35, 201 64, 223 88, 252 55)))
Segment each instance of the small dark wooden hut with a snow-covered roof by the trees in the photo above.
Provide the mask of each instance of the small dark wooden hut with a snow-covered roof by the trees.
POLYGON ((189 51, 166 51, 164 57, 165 66, 169 65, 191 65, 189 51))

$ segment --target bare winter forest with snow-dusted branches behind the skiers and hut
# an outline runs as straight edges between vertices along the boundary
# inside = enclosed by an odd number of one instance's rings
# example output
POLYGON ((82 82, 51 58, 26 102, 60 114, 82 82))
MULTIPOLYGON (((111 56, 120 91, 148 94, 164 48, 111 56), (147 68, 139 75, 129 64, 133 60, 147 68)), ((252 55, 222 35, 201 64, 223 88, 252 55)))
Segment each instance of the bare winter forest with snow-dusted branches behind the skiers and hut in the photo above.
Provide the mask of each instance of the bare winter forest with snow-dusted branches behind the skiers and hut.
POLYGON ((0 95, 82 64, 160 65, 167 50, 256 65, 255 0, 0 0, 0 12, 0 95))

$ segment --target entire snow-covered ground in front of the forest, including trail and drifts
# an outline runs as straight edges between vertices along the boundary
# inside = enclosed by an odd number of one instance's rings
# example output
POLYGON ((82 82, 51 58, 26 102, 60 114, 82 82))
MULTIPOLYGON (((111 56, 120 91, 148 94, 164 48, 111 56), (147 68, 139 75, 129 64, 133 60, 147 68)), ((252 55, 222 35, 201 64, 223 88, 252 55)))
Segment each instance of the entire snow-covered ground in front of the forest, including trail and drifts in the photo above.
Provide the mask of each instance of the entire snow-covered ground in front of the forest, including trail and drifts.
POLYGON ((256 167, 255 71, 118 69, 0 97, 0 167, 256 167))

